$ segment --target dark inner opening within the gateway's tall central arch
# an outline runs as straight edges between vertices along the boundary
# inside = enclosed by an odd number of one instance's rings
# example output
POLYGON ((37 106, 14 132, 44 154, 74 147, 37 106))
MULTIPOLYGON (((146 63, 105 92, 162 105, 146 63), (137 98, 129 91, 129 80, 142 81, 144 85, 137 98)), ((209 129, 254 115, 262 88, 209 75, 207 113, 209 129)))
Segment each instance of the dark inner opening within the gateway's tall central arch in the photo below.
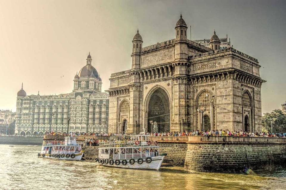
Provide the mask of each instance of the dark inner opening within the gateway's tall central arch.
POLYGON ((170 101, 167 93, 162 89, 156 89, 150 97, 148 103, 148 132, 151 129, 156 129, 155 132, 169 132, 170 131, 170 101), (159 116, 161 115, 161 116, 159 116), (150 121, 156 122, 157 127, 152 127, 150 121))

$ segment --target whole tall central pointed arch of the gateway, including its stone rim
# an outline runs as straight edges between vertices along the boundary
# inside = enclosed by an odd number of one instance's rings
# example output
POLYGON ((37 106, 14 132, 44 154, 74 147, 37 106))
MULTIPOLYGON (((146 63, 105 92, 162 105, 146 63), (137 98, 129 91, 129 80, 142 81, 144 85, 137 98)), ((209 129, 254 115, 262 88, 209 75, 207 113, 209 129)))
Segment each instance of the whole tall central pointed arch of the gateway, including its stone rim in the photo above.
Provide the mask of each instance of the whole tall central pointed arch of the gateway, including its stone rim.
POLYGON ((168 91, 161 85, 155 85, 147 93, 144 100, 143 124, 147 132, 170 131, 171 98, 168 91), (157 117, 158 115, 162 115, 157 117), (151 117, 151 118, 150 118, 151 117), (153 121, 153 126, 150 124, 153 121), (155 122, 157 124, 155 124, 155 122), (156 130, 157 129, 157 130, 156 130))

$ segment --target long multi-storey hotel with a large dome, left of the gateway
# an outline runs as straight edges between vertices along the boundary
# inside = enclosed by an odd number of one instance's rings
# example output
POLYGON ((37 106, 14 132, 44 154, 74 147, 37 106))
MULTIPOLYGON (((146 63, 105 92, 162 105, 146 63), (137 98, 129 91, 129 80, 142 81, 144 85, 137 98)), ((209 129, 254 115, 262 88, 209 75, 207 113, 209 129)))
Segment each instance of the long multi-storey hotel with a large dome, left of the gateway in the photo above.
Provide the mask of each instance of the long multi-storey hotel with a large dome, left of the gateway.
POLYGON ((26 95, 23 84, 17 93, 15 134, 42 135, 45 132, 107 132, 108 94, 101 92, 101 78, 91 65, 74 76, 74 89, 68 94, 26 95))

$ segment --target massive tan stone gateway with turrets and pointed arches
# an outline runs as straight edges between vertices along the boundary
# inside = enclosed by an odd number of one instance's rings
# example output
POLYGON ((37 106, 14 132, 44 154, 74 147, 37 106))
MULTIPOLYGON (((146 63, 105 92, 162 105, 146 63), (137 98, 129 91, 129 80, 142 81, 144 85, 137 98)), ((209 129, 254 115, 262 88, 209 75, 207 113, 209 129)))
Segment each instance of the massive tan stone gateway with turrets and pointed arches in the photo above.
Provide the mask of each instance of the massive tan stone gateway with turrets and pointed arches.
POLYGON ((132 40, 130 70, 111 74, 108 132, 220 130, 261 132, 259 62, 233 47, 187 38, 182 15, 175 39, 143 47, 132 40))

